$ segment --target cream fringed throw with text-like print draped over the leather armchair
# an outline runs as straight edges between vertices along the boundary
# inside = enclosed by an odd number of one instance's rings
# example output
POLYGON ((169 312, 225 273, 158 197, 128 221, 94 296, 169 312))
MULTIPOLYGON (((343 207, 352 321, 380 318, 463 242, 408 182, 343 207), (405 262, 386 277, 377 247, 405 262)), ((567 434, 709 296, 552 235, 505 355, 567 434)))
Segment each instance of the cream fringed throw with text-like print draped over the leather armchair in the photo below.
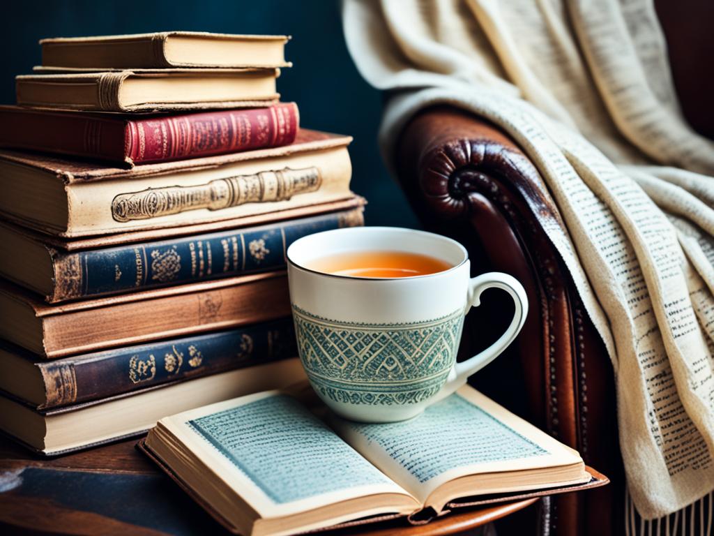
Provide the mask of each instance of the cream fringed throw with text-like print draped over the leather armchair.
POLYGON ((346 0, 361 74, 403 125, 448 103, 538 167, 545 229, 615 369, 630 495, 653 519, 714 489, 714 144, 683 120, 647 0, 346 0), (568 236, 569 235, 569 236, 568 236))

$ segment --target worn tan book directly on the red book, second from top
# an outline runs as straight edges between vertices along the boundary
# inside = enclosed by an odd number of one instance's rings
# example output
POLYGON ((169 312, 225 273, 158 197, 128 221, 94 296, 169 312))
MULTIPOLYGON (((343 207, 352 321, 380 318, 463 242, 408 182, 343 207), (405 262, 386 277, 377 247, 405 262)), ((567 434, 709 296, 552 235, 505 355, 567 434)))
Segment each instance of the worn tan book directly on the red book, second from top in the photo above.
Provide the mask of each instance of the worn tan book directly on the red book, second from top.
POLYGON ((278 69, 171 69, 15 77, 20 106, 84 111, 169 111, 265 106, 278 69))

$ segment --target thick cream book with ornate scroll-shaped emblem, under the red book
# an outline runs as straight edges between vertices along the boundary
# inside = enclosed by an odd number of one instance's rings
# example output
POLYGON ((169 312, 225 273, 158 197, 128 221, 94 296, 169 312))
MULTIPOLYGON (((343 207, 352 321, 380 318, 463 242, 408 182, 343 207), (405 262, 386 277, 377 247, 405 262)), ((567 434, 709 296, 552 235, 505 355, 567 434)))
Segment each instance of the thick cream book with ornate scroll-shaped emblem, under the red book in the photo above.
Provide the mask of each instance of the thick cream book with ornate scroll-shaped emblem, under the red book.
POLYGON ((284 147, 132 169, 0 151, 0 212, 64 237, 159 229, 352 197, 350 137, 300 129, 284 147))

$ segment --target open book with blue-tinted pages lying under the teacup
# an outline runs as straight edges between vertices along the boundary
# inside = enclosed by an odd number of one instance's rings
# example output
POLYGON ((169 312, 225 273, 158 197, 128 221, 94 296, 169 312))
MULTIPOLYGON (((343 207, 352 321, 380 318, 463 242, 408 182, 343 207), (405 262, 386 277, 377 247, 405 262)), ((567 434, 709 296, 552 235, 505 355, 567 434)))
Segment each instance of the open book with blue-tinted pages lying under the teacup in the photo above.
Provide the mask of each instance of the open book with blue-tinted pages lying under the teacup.
POLYGON ((141 447, 243 535, 438 515, 463 497, 592 479, 577 452, 468 386, 404 422, 327 420, 261 392, 166 417, 141 447))

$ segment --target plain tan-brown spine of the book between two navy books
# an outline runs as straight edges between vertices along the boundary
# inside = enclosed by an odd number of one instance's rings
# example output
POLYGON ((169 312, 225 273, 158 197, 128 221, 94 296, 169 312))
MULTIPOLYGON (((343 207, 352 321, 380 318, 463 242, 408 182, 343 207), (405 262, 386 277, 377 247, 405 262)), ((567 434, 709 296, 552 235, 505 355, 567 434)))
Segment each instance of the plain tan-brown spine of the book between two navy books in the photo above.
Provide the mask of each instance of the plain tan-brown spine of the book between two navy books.
MULTIPOLYGON (((54 314, 41 317, 42 347, 34 344, 29 349, 56 359, 288 317, 288 278, 283 273, 231 277, 228 284, 202 282, 188 285, 188 292, 142 292, 138 300, 87 300, 93 306, 89 308, 51 307, 54 314)), ((0 336, 26 344, 4 329, 3 322, 0 336)))

